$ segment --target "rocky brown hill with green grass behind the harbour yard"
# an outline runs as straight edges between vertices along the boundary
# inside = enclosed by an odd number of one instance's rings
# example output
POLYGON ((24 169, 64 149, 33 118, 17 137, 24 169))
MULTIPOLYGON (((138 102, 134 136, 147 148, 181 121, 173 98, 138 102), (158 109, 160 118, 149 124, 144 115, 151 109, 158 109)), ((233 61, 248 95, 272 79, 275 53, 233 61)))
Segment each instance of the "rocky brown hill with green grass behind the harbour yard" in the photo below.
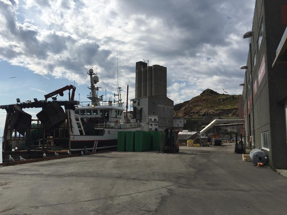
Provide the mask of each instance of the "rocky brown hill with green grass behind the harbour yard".
POLYGON ((238 117, 238 98, 242 95, 220 94, 206 89, 200 95, 174 105, 174 116, 238 117))

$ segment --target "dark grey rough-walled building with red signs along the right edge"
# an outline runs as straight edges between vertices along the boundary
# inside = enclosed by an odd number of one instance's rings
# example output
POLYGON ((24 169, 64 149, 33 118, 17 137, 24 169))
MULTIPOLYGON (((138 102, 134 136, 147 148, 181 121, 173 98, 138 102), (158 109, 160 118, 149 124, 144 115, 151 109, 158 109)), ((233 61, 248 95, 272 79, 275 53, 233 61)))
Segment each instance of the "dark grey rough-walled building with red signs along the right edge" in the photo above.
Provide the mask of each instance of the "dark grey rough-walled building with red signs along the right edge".
POLYGON ((241 67, 245 69, 241 85, 247 148, 262 148, 268 154, 269 165, 277 169, 287 169, 287 69, 277 64, 287 62, 280 42, 282 35, 286 38, 286 25, 287 0, 257 0, 252 30, 243 32, 243 38, 249 40, 247 64, 241 67), (279 50, 281 55, 276 56, 279 50))

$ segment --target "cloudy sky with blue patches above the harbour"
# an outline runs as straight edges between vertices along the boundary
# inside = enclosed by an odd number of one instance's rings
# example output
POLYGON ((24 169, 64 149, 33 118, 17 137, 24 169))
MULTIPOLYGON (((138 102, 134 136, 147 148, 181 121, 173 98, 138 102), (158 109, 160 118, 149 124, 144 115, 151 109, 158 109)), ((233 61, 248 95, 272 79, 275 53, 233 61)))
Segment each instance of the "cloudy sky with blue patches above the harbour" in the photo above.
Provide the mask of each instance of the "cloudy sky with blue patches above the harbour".
MULTIPOLYGON (((99 94, 106 89, 107 97, 113 95, 117 49, 124 99, 127 84, 129 98, 135 96, 135 62, 143 59, 167 67, 174 104, 207 88, 242 93, 240 67, 248 54, 243 34, 251 29, 255 0, 91 2, 0 0, 1 104, 43 99, 74 81, 84 101, 86 64, 97 67, 99 94)), ((0 110, 0 132, 4 116, 0 110)))

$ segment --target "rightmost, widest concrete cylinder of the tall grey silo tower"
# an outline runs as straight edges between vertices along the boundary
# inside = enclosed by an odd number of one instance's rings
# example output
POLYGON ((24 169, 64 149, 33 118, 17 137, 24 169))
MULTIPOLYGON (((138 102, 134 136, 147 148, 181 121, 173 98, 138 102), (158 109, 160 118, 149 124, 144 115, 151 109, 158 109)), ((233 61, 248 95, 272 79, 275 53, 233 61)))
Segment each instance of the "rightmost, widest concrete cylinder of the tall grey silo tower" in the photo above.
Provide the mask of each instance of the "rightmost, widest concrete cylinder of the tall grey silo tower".
POLYGON ((152 66, 152 95, 164 95, 164 67, 160 65, 152 66))

